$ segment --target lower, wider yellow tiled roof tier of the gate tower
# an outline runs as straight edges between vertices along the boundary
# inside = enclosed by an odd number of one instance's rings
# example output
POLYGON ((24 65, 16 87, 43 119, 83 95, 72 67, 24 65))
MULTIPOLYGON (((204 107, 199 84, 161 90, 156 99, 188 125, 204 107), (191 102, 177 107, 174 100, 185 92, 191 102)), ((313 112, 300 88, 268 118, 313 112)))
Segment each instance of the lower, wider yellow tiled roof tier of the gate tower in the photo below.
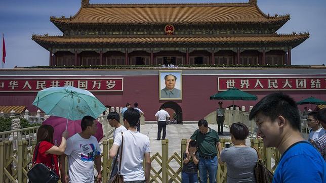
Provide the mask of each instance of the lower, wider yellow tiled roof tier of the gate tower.
POLYGON ((309 33, 291 34, 291 35, 268 35, 268 36, 135 36, 135 37, 107 37, 107 36, 89 36, 89 37, 68 37, 68 36, 41 36, 33 35, 32 39, 36 42, 47 42, 56 44, 73 44, 73 43, 256 43, 256 42, 291 42, 305 40, 309 33))

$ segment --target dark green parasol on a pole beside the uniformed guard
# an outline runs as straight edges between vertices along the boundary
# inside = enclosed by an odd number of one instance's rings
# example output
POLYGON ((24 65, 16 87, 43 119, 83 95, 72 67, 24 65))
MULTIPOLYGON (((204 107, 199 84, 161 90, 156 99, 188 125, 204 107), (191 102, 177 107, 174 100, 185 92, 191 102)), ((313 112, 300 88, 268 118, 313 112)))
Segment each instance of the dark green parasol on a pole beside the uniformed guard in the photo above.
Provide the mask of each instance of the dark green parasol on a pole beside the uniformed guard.
MULTIPOLYGON (((217 93, 210 97, 211 100, 227 100, 227 101, 234 101, 242 100, 242 101, 256 101, 257 96, 251 95, 245 91, 237 89, 235 87, 229 88, 226 91, 221 93, 217 93)), ((233 123, 233 110, 232 110, 232 123, 233 123)))

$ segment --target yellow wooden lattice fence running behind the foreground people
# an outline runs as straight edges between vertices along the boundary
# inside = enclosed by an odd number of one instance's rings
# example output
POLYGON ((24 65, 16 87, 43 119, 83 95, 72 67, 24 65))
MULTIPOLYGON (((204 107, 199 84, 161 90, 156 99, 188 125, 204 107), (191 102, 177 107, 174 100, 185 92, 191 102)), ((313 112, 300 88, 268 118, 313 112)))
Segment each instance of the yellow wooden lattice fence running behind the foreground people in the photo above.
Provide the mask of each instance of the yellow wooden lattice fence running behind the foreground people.
MULTIPOLYGON (((222 147, 230 139, 221 139, 222 147)), ((181 182, 181 170, 183 165, 183 152, 186 150, 186 139, 181 140, 180 152, 174 152, 169 157, 169 140, 161 141, 161 153, 151 155, 152 167, 150 182, 181 182), (155 166, 154 166, 155 164, 155 166)), ((28 163, 32 159, 32 149, 35 141, 18 141, 18 148, 14 150, 12 141, 0 142, 0 182, 27 182, 28 163)), ((103 141, 102 156, 102 175, 103 182, 107 182, 110 172, 112 159, 109 159, 109 148, 112 147, 113 140, 103 141)), ((259 149, 259 153, 264 160, 265 166, 274 171, 278 164, 280 154, 275 148, 263 148, 262 140, 251 139, 251 146, 259 149)), ((143 163, 145 166, 145 163, 143 163)), ((226 182, 226 165, 218 165, 217 181, 226 182)))

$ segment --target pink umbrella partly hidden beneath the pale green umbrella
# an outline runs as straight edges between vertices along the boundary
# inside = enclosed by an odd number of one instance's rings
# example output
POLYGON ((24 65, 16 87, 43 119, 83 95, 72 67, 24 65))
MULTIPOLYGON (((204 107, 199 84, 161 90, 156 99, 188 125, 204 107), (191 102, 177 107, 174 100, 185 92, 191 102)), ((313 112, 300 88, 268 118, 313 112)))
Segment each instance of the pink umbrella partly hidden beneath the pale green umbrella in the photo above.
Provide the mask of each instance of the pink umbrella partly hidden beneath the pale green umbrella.
MULTIPOLYGON (((69 137, 81 132, 81 127, 80 127, 80 121, 81 120, 68 120, 68 133, 69 133, 69 137)), ((97 121, 97 132, 94 135, 97 139, 97 141, 101 141, 103 138, 103 128, 102 128, 102 124, 97 121)), ((55 144, 57 141, 57 145, 59 146, 61 143, 61 134, 62 132, 66 129, 66 123, 67 123, 67 119, 66 118, 62 118, 62 117, 57 117, 57 116, 50 116, 48 119, 46 119, 42 124, 49 124, 51 126, 53 126, 54 128, 54 134, 53 134, 53 143, 55 144)))

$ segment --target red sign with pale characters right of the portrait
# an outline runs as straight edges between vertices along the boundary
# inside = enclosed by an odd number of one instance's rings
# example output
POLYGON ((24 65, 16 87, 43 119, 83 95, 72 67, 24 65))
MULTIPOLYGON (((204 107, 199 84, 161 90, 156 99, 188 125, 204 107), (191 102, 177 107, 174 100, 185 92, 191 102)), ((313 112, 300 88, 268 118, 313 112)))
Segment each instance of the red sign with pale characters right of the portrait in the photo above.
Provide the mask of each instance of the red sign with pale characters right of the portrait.
POLYGON ((325 77, 218 77, 218 90, 326 90, 325 77))

